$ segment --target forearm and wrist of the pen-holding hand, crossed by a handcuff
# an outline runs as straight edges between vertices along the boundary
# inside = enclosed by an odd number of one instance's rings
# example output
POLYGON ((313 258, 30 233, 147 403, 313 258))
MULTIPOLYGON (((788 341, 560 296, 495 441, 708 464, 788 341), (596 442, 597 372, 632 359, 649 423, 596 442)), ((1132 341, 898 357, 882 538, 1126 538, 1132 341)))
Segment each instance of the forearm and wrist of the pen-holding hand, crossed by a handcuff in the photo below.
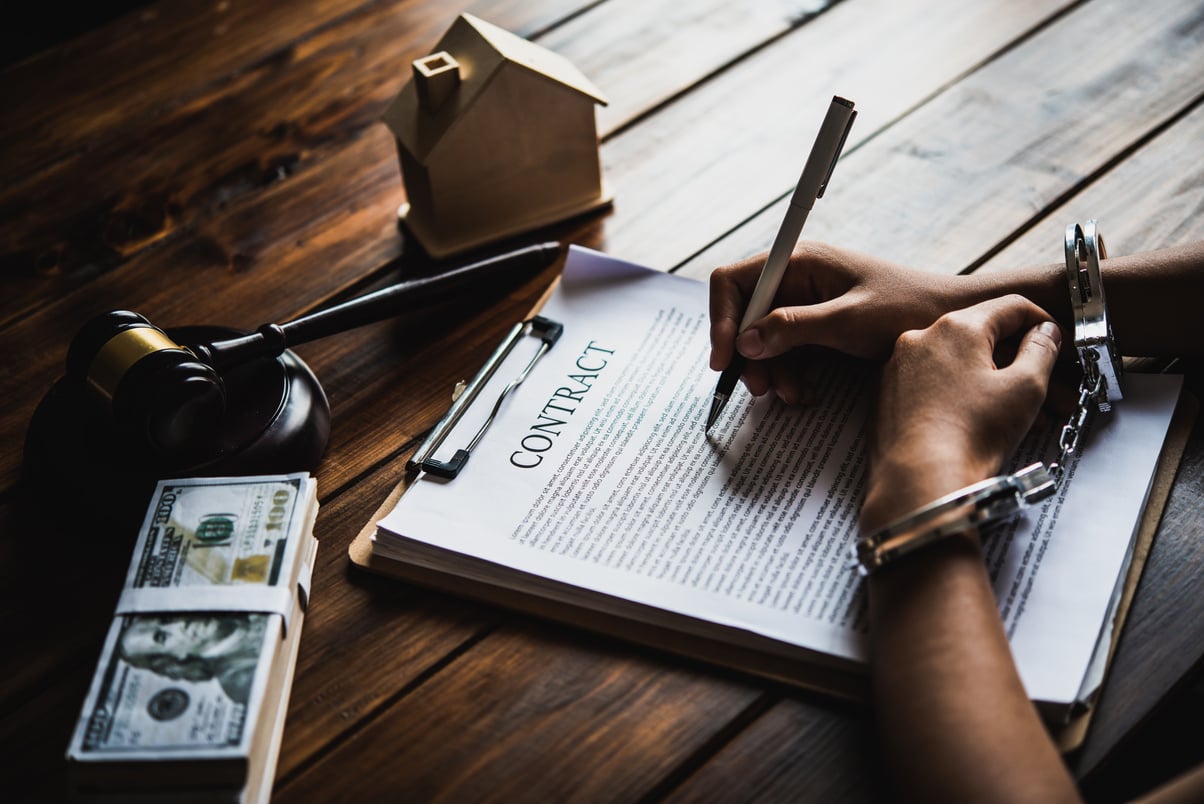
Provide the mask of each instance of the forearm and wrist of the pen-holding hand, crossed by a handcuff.
MULTIPOLYGON (((1204 354, 1204 242, 1106 259, 1100 278, 1121 354, 1204 354)), ((970 274, 955 284, 954 303, 964 307, 1009 292, 1039 305, 1068 333, 1073 330, 1062 264, 970 274)))

